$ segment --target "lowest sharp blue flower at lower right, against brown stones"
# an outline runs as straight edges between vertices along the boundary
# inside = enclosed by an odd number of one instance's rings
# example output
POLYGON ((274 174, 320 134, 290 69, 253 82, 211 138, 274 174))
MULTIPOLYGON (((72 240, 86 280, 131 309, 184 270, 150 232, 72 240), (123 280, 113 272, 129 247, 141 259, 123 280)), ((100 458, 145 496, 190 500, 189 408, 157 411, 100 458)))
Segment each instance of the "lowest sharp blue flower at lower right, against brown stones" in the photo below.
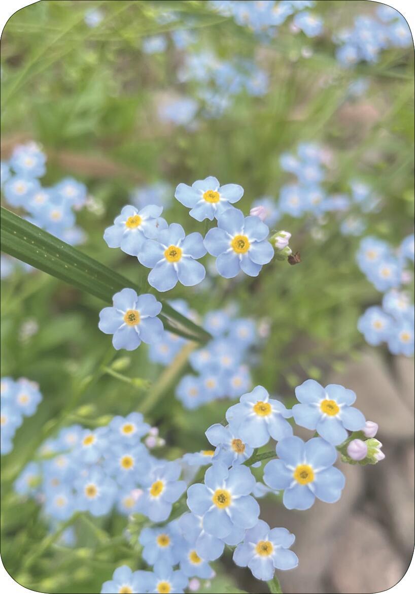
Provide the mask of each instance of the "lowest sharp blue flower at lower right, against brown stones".
POLYGON ((233 561, 240 567, 249 567, 258 580, 268 582, 274 577, 275 569, 294 569, 298 565, 297 555, 290 551, 295 536, 286 528, 270 530, 267 522, 246 530, 243 543, 233 552, 233 561))

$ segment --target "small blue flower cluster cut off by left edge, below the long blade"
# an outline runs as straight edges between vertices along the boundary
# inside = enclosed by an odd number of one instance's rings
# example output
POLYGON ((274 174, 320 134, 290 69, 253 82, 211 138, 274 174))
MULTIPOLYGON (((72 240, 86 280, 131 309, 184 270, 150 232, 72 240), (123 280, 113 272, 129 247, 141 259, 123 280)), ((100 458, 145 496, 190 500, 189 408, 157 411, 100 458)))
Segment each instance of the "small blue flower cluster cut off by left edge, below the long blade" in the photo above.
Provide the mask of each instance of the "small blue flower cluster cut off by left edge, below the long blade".
POLYGON ((24 416, 32 416, 42 400, 39 386, 24 377, 12 380, 2 377, 0 380, 0 453, 8 454, 13 449, 13 437, 16 429, 23 423, 24 416))

